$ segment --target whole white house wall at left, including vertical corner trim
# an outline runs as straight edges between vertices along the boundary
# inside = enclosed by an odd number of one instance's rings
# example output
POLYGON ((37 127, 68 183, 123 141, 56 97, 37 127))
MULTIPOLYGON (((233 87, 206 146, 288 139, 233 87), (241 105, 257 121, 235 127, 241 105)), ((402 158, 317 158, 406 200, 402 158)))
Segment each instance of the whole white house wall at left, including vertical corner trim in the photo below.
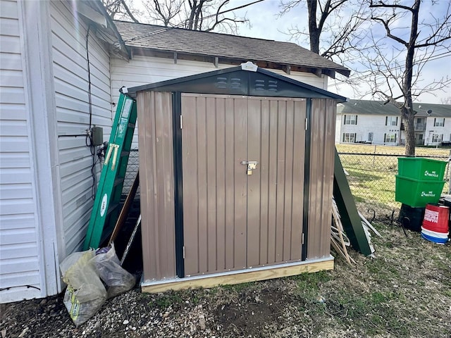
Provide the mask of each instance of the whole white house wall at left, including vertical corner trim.
MULTIPOLYGON (((58 263, 81 248, 93 201, 92 156, 85 145, 87 25, 66 1, 0 0, 0 13, 0 301, 5 303, 61 292, 58 263)), ((89 58, 92 123, 109 133, 109 54, 94 34, 89 58)))

